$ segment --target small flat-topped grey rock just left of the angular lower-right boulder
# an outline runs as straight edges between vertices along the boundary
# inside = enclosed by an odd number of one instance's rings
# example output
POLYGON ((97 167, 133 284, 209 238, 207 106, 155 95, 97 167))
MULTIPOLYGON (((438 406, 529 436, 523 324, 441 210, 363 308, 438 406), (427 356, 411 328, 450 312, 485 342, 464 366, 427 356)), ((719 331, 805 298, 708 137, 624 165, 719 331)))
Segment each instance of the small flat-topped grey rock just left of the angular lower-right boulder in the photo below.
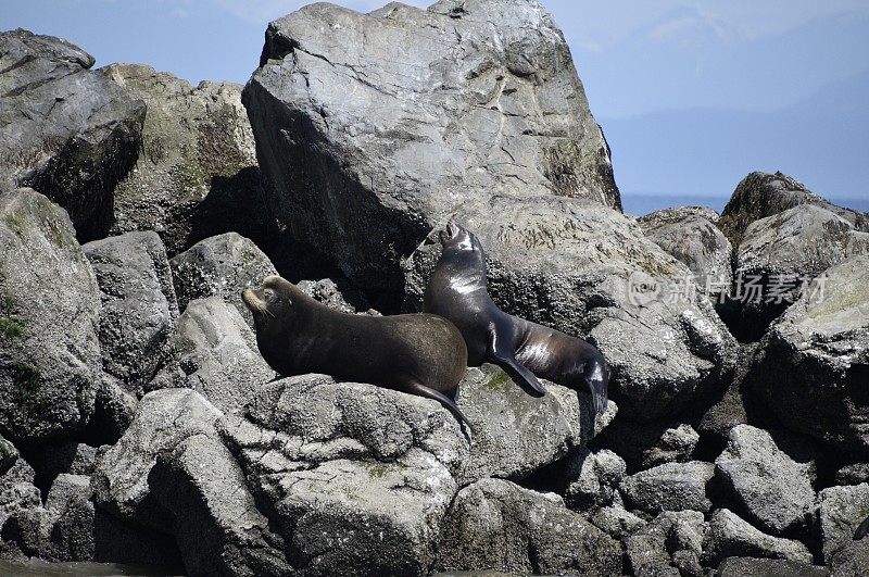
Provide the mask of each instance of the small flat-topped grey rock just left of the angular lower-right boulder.
POLYGON ((706 486, 715 475, 710 463, 665 463, 635 473, 621 481, 625 498, 650 513, 662 511, 701 511, 711 509, 706 486))

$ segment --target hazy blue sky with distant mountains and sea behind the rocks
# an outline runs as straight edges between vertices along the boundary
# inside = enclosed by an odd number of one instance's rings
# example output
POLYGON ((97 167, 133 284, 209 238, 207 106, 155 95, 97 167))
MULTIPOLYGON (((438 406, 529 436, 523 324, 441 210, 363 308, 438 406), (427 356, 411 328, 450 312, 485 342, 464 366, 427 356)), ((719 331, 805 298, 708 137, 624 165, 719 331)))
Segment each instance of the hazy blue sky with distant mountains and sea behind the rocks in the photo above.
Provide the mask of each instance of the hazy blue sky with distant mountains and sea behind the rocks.
MULTIPOLYGON (((243 84, 267 23, 305 3, 0 0, 0 29, 61 36, 97 66, 243 84)), ((628 212, 697 199, 720 210, 752 171, 869 211, 869 1, 541 3, 570 46, 628 212)))

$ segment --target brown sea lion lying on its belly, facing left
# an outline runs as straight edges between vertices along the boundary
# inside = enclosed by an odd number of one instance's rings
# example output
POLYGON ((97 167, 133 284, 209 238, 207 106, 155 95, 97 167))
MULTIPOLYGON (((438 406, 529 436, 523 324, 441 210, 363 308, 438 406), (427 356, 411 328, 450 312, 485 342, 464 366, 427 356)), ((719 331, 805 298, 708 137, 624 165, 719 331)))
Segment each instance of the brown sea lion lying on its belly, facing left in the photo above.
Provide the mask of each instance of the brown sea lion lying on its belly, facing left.
POLYGON ((241 298, 253 314, 263 359, 280 375, 322 373, 434 399, 470 427, 455 404, 467 349, 445 318, 342 313, 279 276, 267 276, 241 298))

